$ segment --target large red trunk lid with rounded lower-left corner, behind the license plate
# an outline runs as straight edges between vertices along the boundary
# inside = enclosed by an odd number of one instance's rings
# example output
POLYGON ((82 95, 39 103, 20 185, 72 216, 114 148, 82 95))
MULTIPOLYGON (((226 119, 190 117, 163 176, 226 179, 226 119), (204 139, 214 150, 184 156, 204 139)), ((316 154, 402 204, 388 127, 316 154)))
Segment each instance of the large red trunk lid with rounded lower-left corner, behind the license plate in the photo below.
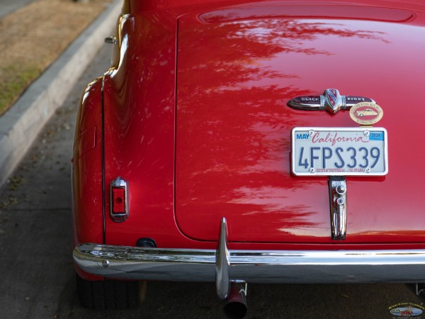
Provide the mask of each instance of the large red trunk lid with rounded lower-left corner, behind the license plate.
POLYGON ((423 22, 421 13, 366 6, 246 6, 181 17, 181 231, 217 240, 226 217, 233 242, 335 242, 328 178, 290 174, 290 130, 358 124, 347 111, 287 106, 334 88, 374 99, 384 111, 375 126, 389 135, 387 176, 346 177, 344 242, 423 241, 423 22))

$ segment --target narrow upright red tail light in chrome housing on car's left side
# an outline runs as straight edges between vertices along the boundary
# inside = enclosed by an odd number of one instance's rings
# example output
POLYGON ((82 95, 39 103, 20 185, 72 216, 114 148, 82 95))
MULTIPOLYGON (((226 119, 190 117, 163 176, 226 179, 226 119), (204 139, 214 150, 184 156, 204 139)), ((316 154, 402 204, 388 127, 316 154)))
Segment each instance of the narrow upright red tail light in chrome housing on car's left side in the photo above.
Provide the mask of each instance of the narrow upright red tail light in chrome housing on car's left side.
POLYGON ((128 182, 121 177, 111 181, 111 218, 117 223, 128 218, 128 182))

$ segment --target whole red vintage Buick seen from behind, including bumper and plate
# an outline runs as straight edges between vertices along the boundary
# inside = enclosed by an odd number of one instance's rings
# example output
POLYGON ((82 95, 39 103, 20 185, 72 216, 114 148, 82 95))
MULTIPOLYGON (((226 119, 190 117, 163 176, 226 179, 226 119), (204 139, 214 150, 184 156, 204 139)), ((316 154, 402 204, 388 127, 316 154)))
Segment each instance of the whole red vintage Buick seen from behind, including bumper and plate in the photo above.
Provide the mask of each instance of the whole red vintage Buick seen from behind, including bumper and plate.
POLYGON ((421 0, 125 1, 77 115, 82 303, 425 282, 424 27, 421 0))

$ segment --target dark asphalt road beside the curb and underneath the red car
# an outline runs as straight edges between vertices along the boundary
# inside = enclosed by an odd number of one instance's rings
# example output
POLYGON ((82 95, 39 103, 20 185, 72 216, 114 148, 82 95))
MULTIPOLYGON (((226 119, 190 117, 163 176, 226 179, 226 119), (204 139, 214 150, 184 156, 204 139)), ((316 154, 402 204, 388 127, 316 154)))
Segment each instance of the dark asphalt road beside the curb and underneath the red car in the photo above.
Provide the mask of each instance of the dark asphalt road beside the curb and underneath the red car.
MULTIPOLYGON (((105 45, 0 190, 1 318, 222 318, 214 284, 149 282, 135 310, 82 308, 70 239, 74 118, 86 83, 109 65, 105 45)), ((395 318, 398 303, 422 305, 402 284, 248 287, 246 318, 395 318)), ((416 317, 419 318, 419 317, 416 317)))

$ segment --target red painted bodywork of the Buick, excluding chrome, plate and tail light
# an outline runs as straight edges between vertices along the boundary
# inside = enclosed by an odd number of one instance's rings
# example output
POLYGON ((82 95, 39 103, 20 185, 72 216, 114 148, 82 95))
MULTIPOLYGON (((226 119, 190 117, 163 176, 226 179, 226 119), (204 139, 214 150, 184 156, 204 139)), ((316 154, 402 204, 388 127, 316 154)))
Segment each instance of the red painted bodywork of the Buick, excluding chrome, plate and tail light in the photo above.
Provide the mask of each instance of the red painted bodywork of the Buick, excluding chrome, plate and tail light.
POLYGON ((75 243, 103 242, 104 205, 111 245, 215 249, 226 217, 232 249, 425 247, 424 150, 412 147, 425 116, 424 6, 243 2, 129 1, 116 65, 77 118, 75 243), (327 178, 289 172, 291 128, 357 126, 348 112, 286 106, 327 88, 375 99, 389 133, 387 176, 347 178, 344 241, 330 239, 327 178), (118 176, 123 223, 109 218, 118 176))

